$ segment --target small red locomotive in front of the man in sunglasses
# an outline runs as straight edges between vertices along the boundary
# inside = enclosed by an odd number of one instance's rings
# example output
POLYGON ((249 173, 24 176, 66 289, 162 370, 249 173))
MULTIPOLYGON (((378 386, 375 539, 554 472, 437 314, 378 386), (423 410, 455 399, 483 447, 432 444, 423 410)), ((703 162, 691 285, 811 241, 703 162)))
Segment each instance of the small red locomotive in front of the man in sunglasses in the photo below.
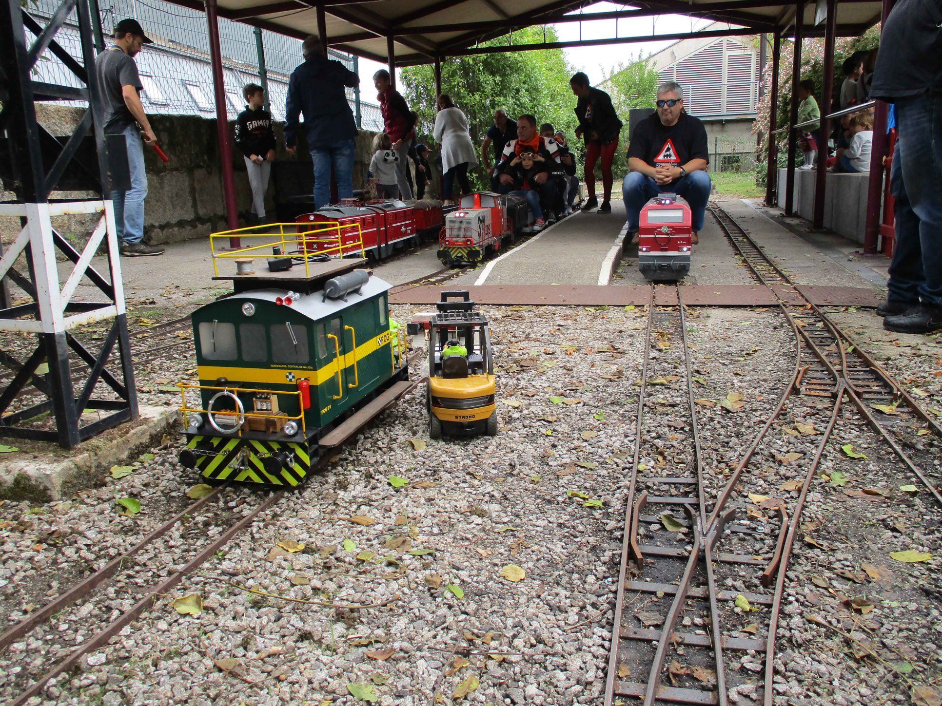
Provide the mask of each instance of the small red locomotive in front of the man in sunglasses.
POLYGON ((638 229, 638 269, 648 280, 674 281, 690 272, 690 204, 662 193, 644 204, 638 229))

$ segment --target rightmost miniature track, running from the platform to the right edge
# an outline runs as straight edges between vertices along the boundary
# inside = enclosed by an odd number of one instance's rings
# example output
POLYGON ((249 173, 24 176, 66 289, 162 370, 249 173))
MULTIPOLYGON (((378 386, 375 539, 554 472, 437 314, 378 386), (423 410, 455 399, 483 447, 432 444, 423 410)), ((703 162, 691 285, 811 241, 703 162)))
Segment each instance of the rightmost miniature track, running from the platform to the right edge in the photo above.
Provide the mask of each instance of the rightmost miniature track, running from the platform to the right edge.
MULTIPOLYGON (((801 294, 733 217, 712 202, 709 211, 755 279, 771 289, 807 345, 819 352, 821 365, 809 374, 820 376, 821 367, 828 368, 846 388, 853 406, 942 505, 942 427, 826 313, 801 294)), ((824 386, 821 392, 826 393, 824 386)))

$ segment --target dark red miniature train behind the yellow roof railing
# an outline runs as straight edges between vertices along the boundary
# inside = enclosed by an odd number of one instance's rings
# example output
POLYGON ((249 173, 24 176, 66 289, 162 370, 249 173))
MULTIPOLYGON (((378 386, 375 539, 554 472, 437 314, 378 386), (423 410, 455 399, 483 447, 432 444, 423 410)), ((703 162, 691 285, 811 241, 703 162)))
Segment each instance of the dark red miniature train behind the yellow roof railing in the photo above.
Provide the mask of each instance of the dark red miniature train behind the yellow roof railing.
MULTIPOLYGON (((425 234, 437 234, 442 227, 442 202, 382 201, 364 204, 324 206, 311 214, 302 214, 297 222, 304 225, 339 223, 343 240, 342 254, 360 257, 360 238, 366 256, 382 260, 396 249, 413 245, 425 234)), ((301 232, 301 226, 299 226, 301 232)), ((334 238, 310 236, 303 241, 304 252, 333 249, 334 238)))

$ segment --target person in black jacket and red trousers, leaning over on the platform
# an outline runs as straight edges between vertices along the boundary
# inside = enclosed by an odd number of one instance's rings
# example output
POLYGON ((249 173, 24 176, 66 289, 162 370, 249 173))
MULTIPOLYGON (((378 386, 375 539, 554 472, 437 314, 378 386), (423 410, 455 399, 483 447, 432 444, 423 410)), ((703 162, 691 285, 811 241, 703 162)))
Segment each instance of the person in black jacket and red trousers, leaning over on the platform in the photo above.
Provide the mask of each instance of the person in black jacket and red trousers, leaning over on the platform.
POLYGON ((578 72, 569 79, 569 87, 578 97, 576 117, 579 126, 576 136, 586 141, 586 159, 584 173, 589 200, 582 206, 583 211, 591 211, 598 206, 595 198, 595 162, 602 157, 602 205, 600 214, 611 213, 611 162, 618 150, 618 136, 622 131, 622 121, 618 119, 611 104, 609 94, 604 90, 589 85, 589 76, 578 72))

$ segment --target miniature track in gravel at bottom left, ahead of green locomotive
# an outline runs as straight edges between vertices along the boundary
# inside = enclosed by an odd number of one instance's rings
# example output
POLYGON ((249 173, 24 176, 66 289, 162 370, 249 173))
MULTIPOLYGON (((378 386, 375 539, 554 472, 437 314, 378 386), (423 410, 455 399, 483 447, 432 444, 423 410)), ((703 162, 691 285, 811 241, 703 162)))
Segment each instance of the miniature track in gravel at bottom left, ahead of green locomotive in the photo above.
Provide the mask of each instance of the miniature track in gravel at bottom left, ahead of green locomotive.
MULTIPOLYGON (((16 641, 28 636, 50 619, 56 618, 62 611, 69 610, 76 602, 90 600, 97 589, 105 586, 112 577, 122 570, 128 571, 129 573, 140 570, 137 564, 130 561, 135 554, 138 554, 140 550, 166 535, 179 522, 205 509, 206 505, 212 503, 212 501, 218 500, 225 488, 226 485, 219 486, 206 497, 187 506, 186 509, 175 515, 171 520, 165 522, 147 535, 147 537, 141 539, 138 544, 126 553, 108 562, 102 569, 90 574, 56 599, 53 599, 34 611, 29 617, 24 618, 19 623, 8 628, 4 634, 0 635, 0 650, 8 650, 16 641)), ((26 703, 30 698, 41 696, 43 689, 50 681, 63 672, 77 666, 80 660, 90 652, 106 646, 108 641, 119 634, 125 626, 151 608, 155 602, 161 600, 174 586, 177 586, 187 573, 198 569, 203 562, 212 557, 219 548, 223 547, 230 539, 234 538, 235 535, 248 527, 252 521, 268 510, 269 507, 278 503, 283 497, 284 490, 270 493, 268 498, 260 502, 249 514, 232 522, 219 536, 200 546, 198 551, 192 554, 188 561, 181 559, 181 561, 186 561, 183 566, 177 566, 169 570, 164 578, 154 581, 150 586, 141 589, 135 589, 131 583, 121 586, 122 598, 133 599, 134 604, 127 610, 122 611, 117 618, 110 621, 103 621, 104 624, 102 627, 77 647, 73 647, 72 644, 69 643, 60 644, 57 657, 53 658, 56 660, 55 664, 53 666, 43 665, 44 671, 41 674, 26 674, 24 671, 20 671, 15 674, 15 676, 11 677, 11 682, 18 691, 16 692, 16 698, 9 701, 9 703, 19 706, 19 704, 26 703)), ((84 622, 89 620, 89 618, 82 618, 82 620, 84 622)), ((85 627, 86 626, 83 624, 82 628, 85 627)), ((75 626, 75 628, 81 632, 81 628, 78 626, 75 626)), ((45 634, 42 638, 43 642, 48 644, 52 635, 54 635, 52 632, 45 634)))

